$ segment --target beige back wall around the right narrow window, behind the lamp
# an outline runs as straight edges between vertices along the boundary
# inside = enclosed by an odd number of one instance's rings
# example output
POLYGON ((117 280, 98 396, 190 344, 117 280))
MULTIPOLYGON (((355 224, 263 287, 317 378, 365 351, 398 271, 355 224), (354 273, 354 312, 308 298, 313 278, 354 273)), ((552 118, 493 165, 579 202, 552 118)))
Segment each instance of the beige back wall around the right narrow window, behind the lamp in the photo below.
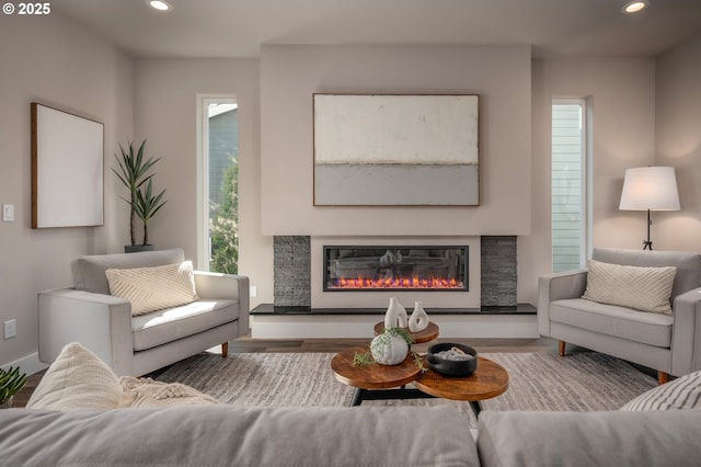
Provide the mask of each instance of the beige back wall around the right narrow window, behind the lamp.
POLYGON ((535 304, 538 275, 551 271, 552 99, 588 98, 591 102, 593 244, 642 249, 645 215, 619 210, 618 204, 625 169, 654 162, 655 61, 652 58, 533 60, 532 86, 533 228, 530 237, 519 238, 518 288, 519 299, 535 304))

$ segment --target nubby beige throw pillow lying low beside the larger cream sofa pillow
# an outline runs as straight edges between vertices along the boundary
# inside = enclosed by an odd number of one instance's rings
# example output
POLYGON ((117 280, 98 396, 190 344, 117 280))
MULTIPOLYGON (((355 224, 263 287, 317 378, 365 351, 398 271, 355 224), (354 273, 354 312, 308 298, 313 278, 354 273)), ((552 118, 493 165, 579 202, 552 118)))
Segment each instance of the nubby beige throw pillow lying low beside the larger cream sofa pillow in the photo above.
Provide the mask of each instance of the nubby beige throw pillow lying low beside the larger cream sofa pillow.
POLYGON ((154 381, 151 378, 119 378, 123 396, 119 407, 171 407, 219 403, 214 397, 181 383, 154 381))

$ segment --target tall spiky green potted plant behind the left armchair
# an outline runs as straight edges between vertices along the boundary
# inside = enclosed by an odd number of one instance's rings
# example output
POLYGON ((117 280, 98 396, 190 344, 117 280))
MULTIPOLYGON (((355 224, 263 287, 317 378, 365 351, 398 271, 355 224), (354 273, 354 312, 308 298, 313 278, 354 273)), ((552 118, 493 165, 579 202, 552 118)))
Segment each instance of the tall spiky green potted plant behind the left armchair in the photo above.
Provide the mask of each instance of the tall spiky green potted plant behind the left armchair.
POLYGON ((119 155, 114 155, 117 159, 119 170, 112 168, 112 171, 117 175, 119 181, 129 191, 129 198, 123 197, 129 205, 129 237, 131 243, 124 247, 125 252, 152 250, 153 246, 148 243, 148 220, 161 208, 165 202, 161 203, 161 198, 165 190, 159 193, 157 196, 152 195, 152 182, 153 173, 149 173, 149 170, 161 160, 160 158, 153 159, 152 157, 145 159, 143 150, 146 148, 146 139, 141 143, 138 150, 135 151, 134 143, 129 141, 129 146, 125 149, 119 145, 119 155), (146 184, 145 191, 142 187, 146 184), (143 241, 141 244, 136 242, 136 232, 134 228, 136 217, 139 217, 143 223, 143 241))

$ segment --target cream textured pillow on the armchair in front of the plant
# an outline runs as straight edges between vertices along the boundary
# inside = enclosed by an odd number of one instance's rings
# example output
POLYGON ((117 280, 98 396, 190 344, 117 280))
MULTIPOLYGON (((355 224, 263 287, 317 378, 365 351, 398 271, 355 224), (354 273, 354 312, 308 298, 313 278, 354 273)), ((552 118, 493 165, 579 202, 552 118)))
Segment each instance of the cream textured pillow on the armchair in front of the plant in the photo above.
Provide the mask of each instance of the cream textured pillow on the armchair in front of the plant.
POLYGON ((131 303, 131 315, 186 305, 197 299, 193 262, 105 271, 110 293, 131 303))

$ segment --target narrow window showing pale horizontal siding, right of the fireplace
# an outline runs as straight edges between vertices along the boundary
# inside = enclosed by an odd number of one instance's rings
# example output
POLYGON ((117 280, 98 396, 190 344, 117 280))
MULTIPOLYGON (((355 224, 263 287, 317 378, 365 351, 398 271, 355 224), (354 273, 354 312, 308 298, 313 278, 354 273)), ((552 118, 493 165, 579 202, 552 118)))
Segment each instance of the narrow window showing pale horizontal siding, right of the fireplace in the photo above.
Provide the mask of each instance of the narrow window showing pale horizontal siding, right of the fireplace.
POLYGON ((586 101, 552 103, 552 270, 578 269, 587 251, 586 101))

